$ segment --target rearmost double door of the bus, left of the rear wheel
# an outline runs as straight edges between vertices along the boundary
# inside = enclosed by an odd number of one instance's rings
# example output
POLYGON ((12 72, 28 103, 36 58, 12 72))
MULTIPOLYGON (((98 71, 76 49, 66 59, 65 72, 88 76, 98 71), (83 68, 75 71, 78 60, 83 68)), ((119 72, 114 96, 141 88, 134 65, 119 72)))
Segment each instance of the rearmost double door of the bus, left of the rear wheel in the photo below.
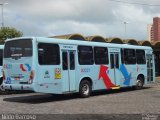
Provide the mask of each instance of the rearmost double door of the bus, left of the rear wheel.
POLYGON ((62 51, 63 91, 75 91, 75 54, 74 50, 62 51))

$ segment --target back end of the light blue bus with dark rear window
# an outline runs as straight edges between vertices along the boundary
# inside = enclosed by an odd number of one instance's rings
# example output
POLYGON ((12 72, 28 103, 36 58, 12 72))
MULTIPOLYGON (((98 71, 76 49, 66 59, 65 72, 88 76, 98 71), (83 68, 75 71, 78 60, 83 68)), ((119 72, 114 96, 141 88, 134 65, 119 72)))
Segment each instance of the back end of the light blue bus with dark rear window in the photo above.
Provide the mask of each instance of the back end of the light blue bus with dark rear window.
POLYGON ((8 90, 33 90, 32 39, 8 40, 4 46, 3 88, 8 90))

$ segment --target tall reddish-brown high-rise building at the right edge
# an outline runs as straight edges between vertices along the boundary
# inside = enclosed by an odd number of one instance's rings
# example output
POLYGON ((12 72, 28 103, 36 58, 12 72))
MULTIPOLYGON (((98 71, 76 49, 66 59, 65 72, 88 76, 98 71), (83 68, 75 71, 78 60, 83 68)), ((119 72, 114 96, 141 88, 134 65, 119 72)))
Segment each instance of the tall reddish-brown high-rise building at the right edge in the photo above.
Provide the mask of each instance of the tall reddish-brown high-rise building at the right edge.
POLYGON ((147 26, 148 40, 149 41, 160 41, 160 18, 154 17, 153 24, 147 26))

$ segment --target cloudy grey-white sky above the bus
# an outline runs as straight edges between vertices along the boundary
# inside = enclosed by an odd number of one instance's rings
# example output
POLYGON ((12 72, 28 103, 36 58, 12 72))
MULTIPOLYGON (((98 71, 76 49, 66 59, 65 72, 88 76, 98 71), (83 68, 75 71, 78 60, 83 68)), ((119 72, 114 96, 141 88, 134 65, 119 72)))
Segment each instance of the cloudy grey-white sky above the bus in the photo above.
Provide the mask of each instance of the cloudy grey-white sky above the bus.
MULTIPOLYGON (((79 33, 147 40, 147 25, 153 22, 153 17, 160 17, 160 0, 0 0, 0 3, 8 3, 3 6, 4 26, 22 31, 23 36, 79 33)), ((0 15, 0 23, 1 18, 0 15)))

